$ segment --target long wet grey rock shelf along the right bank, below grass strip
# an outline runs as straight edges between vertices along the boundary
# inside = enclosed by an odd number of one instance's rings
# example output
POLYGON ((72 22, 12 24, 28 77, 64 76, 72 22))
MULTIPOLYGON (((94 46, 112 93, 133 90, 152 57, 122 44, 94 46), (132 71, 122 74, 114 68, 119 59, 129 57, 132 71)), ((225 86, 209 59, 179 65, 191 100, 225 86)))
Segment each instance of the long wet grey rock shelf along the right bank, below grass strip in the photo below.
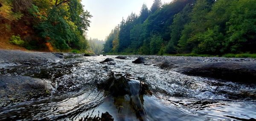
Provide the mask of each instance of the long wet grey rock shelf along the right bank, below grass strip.
POLYGON ((256 59, 170 56, 153 63, 161 69, 187 75, 256 84, 256 59))

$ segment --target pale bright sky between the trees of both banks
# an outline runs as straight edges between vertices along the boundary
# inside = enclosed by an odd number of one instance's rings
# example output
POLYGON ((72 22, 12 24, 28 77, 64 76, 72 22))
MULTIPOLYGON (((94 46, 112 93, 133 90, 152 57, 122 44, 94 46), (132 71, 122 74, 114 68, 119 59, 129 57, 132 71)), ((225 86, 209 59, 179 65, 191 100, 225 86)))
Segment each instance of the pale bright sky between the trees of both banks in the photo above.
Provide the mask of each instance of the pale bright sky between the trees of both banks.
MULTIPOLYGON (((172 0, 162 0, 162 3, 169 3, 172 0)), ((90 19, 88 38, 105 40, 111 30, 128 17, 131 12, 140 14, 140 9, 145 3, 150 9, 153 0, 82 0, 84 10, 88 10, 93 17, 90 19)))

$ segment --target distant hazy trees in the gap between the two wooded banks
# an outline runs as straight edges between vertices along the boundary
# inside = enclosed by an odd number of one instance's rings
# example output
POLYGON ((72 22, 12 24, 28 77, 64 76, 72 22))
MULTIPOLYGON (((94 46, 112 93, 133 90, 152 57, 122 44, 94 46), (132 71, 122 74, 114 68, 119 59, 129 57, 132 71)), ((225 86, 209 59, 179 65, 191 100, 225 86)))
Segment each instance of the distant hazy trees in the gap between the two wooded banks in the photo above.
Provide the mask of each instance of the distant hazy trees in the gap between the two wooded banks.
POLYGON ((102 54, 103 53, 103 44, 105 43, 105 41, 103 40, 99 40, 99 39, 92 39, 90 38, 89 39, 89 45, 90 45, 90 48, 92 49, 92 51, 94 53, 97 53, 97 54, 102 54))

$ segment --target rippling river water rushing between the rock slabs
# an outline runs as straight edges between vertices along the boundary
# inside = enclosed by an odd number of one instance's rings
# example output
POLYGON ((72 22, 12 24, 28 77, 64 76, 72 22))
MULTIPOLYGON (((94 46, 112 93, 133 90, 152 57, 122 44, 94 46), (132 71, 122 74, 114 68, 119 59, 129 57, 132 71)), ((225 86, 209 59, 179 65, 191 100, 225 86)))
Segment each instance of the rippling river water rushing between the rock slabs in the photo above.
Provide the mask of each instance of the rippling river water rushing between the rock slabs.
POLYGON ((107 57, 75 57, 52 64, 2 68, 2 75, 40 78, 51 82, 54 90, 47 98, 0 107, 0 120, 256 119, 255 84, 186 76, 154 65, 134 64, 136 56, 99 63, 107 57))

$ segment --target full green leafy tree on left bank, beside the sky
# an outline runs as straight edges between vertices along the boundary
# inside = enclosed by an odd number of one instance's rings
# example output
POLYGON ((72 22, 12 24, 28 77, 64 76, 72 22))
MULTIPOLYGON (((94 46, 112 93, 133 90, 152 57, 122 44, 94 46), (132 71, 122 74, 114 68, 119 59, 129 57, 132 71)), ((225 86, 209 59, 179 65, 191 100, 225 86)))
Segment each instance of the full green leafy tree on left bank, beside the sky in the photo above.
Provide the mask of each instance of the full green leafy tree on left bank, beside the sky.
POLYGON ((39 36, 50 42, 56 49, 76 48, 86 50, 88 42, 83 33, 89 27, 92 17, 84 11, 79 0, 67 5, 54 6, 49 10, 47 20, 36 26, 39 36))

